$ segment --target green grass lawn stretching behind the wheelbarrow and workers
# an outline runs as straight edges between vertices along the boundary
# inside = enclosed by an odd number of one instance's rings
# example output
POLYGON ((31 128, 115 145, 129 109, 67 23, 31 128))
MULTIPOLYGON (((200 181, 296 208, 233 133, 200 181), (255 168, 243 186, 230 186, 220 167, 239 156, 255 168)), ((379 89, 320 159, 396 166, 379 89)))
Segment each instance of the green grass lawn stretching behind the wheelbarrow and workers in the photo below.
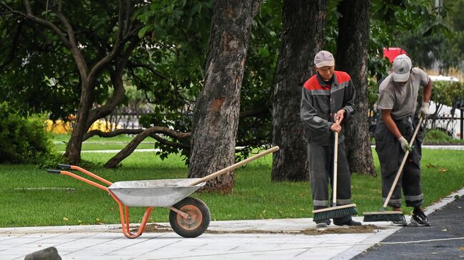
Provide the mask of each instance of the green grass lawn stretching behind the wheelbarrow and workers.
MULTIPOLYGON (((101 146, 101 145, 100 145, 101 146)), ((153 146, 152 146, 153 147, 153 146)), ((100 165, 111 153, 83 153, 100 165)), ((374 154, 378 169, 378 158, 374 154)), ((425 206, 464 187, 462 151, 423 151, 425 206)), ((185 178, 187 168, 178 157, 161 161, 153 152, 134 152, 116 170, 88 169, 111 182, 185 178)), ((312 217, 308 182, 271 182, 271 156, 236 170, 233 194, 193 193, 211 210, 214 220, 312 217)), ((35 165, 0 165, 0 227, 71 224, 118 224, 116 202, 101 189, 65 175, 52 175, 35 165), (46 189, 44 189, 46 188, 46 189)), ((358 212, 378 211, 382 205, 380 177, 353 174, 353 202, 358 212)), ((409 214, 410 208, 403 208, 409 214)), ((144 208, 131 207, 131 222, 141 221, 144 208)), ((167 222, 168 209, 154 209, 149 222, 167 222)))

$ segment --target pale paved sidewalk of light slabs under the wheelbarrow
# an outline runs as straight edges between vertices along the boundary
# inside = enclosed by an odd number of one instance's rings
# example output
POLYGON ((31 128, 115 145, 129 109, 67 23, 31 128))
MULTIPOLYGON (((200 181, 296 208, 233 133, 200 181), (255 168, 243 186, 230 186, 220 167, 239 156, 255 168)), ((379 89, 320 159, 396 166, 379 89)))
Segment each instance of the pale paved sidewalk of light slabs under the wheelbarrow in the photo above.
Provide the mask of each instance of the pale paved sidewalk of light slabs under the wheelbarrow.
MULTIPOLYGON (((464 189, 456 194, 463 196, 464 189)), ((452 202, 456 194, 428 207, 427 213, 452 202)), ((0 229, 0 259, 24 259, 26 254, 49 246, 55 246, 64 260, 351 259, 400 229, 388 222, 365 224, 378 229, 365 234, 315 236, 299 233, 316 230, 312 219, 263 219, 211 222, 209 232, 194 239, 173 232, 144 232, 136 239, 127 239, 120 225, 4 228, 0 229)))

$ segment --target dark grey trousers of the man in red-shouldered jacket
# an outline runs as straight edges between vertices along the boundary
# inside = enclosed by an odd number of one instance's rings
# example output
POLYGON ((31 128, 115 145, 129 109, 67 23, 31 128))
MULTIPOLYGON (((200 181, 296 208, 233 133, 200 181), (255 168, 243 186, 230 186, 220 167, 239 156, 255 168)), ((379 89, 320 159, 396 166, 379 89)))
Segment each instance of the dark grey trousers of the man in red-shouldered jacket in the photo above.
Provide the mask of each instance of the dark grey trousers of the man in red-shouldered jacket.
MULTIPOLYGON (((329 183, 333 187, 333 145, 321 146, 308 143, 308 162, 314 209, 326 208, 332 204, 333 200, 333 197, 330 202, 328 200, 329 183)), ((337 172, 337 206, 351 204, 351 175, 348 160, 346 160, 344 142, 338 145, 337 172)), ((333 222, 343 224, 350 219, 351 216, 341 217, 333 219, 333 222)), ((326 222, 326 220, 319 222, 326 222)))

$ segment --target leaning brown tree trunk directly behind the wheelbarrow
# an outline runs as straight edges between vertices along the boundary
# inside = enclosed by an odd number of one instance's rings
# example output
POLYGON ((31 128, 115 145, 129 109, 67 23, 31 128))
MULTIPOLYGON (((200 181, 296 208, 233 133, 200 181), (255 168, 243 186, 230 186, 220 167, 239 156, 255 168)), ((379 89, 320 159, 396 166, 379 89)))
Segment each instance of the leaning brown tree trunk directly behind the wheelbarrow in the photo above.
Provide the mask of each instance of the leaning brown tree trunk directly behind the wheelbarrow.
MULTIPOLYGON (((251 22, 261 0, 216 1, 203 90, 193 112, 188 177, 204 177, 235 162, 240 89, 251 22)), ((233 192, 233 172, 203 189, 233 192)))

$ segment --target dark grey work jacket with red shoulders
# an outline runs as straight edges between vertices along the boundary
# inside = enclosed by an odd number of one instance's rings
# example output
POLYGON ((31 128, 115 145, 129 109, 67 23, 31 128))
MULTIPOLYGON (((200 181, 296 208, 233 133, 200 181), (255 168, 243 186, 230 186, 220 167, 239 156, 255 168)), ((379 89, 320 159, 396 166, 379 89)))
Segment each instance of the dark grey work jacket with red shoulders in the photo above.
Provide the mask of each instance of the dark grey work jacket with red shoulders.
POLYGON ((305 126, 305 137, 315 145, 333 145, 333 116, 342 108, 342 132, 338 142, 343 142, 343 125, 355 114, 355 88, 348 73, 334 71, 331 85, 326 85, 318 73, 303 85, 300 118, 305 126))

